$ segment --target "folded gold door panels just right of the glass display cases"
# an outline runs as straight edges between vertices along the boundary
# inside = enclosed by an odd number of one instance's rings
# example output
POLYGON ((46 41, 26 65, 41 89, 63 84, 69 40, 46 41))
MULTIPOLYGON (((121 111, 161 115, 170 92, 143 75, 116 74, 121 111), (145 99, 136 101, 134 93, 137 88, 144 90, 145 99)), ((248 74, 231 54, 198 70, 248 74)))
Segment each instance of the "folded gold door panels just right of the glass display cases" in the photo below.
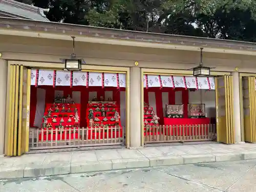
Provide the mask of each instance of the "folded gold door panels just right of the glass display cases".
POLYGON ((232 76, 216 78, 217 141, 234 143, 232 76))

